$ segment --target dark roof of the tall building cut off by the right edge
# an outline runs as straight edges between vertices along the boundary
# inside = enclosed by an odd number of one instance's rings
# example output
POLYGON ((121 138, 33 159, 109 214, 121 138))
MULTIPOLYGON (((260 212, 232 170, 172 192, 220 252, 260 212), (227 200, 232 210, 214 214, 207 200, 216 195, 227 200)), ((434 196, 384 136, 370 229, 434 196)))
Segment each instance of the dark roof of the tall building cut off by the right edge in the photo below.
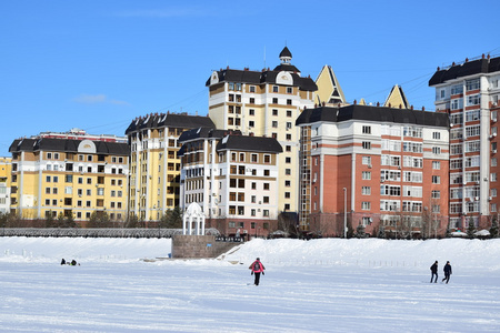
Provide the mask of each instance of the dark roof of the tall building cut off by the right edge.
POLYGON ((492 73, 500 71, 500 57, 497 58, 481 58, 473 61, 466 61, 460 64, 453 64, 447 69, 438 69, 438 71, 429 80, 429 87, 444 83, 449 80, 464 78, 468 75, 480 73, 492 73))

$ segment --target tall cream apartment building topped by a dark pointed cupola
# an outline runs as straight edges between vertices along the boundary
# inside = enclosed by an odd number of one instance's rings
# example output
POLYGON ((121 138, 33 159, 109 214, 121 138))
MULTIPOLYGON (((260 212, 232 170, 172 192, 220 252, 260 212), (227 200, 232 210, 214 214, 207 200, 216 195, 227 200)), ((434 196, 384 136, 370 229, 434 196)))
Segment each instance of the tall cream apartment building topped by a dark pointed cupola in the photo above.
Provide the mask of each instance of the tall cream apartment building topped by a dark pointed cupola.
POLYGON ((284 151, 279 155, 279 208, 298 210, 299 131, 294 127, 302 110, 314 104, 317 84, 301 77, 291 64, 286 47, 273 70, 221 69, 207 81, 209 115, 218 129, 238 130, 243 135, 274 138, 284 151))

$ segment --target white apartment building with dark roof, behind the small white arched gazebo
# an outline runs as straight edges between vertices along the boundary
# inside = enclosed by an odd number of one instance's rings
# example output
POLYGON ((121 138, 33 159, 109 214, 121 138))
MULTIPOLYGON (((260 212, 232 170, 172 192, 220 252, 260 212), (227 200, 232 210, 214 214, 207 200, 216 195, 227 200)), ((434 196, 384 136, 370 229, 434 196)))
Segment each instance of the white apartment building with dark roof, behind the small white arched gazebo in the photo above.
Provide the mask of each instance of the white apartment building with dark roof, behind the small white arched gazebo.
POLYGON ((276 139, 206 128, 179 141, 183 210, 197 202, 207 228, 226 235, 267 236, 277 230, 282 148, 276 139))

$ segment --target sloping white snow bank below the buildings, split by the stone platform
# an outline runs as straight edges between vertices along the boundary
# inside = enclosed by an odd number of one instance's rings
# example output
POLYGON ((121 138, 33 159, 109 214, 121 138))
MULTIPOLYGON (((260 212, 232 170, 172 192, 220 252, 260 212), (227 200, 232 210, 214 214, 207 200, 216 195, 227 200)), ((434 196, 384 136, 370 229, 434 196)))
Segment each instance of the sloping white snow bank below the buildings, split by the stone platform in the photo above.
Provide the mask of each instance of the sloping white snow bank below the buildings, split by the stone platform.
MULTIPOLYGON (((0 238, 0 261, 53 262, 76 259, 80 262, 130 262, 168 258, 170 239, 82 239, 82 238, 0 238)), ((342 240, 252 240, 230 251, 223 262, 250 263, 259 256, 273 265, 392 265, 427 266, 438 260, 453 266, 500 270, 500 239, 388 241, 379 239, 342 240)), ((187 264, 221 264, 203 260, 187 264)))

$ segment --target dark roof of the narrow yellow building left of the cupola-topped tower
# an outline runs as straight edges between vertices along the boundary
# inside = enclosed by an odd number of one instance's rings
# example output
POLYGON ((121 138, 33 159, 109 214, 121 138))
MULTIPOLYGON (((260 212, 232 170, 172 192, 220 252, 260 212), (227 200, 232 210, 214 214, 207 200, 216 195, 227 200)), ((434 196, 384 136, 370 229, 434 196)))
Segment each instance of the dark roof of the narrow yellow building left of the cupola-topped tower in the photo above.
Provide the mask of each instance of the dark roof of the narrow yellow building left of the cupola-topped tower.
POLYGON ((216 125, 213 124, 213 121, 208 117, 176 113, 154 113, 134 119, 127 128, 126 134, 142 129, 157 128, 213 129, 216 128, 216 125))

